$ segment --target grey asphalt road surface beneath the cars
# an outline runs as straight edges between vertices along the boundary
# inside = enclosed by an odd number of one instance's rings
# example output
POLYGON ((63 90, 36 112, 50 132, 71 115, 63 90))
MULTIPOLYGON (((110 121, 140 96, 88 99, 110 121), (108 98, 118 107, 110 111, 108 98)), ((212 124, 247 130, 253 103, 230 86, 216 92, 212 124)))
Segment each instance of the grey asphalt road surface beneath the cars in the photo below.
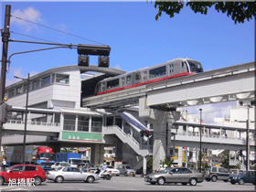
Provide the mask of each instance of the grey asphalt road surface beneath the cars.
POLYGON ((141 176, 112 176, 111 180, 100 179, 92 184, 84 182, 54 183, 47 180, 41 186, 17 187, 5 184, 0 191, 255 191, 252 184, 231 185, 223 181, 198 183, 197 186, 182 186, 181 184, 151 185, 141 176))

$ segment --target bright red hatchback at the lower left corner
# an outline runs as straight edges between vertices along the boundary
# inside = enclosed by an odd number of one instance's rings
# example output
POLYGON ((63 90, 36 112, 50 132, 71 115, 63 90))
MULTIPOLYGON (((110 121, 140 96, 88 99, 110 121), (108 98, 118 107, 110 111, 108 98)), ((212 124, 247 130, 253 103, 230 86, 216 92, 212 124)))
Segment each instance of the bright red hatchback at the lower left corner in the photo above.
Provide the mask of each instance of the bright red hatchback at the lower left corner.
POLYGON ((0 172, 0 185, 9 183, 9 179, 15 179, 16 183, 22 179, 33 182, 36 186, 46 181, 46 172, 38 165, 13 165, 6 171, 0 172))

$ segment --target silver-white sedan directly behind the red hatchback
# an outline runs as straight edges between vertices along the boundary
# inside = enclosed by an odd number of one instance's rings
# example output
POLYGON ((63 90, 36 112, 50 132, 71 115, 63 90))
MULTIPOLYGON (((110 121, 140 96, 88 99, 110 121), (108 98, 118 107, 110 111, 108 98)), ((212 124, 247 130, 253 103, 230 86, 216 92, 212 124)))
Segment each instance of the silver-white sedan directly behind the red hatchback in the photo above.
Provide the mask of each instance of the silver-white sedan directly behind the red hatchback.
POLYGON ((61 183, 62 181, 84 181, 87 183, 93 183, 100 179, 97 174, 92 174, 88 172, 83 172, 78 168, 66 166, 59 167, 55 171, 48 171, 47 179, 53 180, 56 183, 61 183))

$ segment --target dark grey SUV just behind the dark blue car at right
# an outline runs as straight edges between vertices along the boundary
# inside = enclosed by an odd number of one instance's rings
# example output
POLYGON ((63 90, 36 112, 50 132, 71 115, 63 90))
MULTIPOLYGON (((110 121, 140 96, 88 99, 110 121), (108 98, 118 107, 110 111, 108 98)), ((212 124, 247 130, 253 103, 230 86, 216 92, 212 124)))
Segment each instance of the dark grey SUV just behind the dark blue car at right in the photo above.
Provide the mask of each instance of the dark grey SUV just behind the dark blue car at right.
POLYGON ((212 182, 216 182, 217 180, 223 180, 224 182, 229 181, 229 176, 232 172, 220 166, 213 166, 206 168, 205 178, 207 181, 212 180, 212 182))

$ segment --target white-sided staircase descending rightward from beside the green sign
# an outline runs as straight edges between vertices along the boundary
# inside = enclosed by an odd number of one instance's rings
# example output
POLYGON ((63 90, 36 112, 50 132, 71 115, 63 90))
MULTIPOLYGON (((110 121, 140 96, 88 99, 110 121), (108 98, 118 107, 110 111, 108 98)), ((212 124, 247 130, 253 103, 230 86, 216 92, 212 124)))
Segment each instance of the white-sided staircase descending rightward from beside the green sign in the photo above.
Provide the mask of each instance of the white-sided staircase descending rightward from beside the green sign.
POLYGON ((133 150, 141 156, 149 155, 149 150, 144 145, 139 144, 129 133, 124 133, 123 130, 117 126, 104 126, 103 134, 115 134, 124 144, 129 144, 133 150))

